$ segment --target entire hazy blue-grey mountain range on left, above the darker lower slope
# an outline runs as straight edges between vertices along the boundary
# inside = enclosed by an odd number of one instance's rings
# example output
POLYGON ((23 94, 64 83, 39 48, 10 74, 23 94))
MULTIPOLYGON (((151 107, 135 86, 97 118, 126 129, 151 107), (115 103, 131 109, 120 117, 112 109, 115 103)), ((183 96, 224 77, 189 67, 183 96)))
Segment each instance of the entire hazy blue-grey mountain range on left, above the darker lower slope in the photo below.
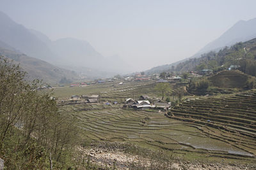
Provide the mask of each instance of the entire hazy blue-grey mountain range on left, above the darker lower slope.
POLYGON ((125 73, 127 70, 131 71, 131 67, 127 66, 120 57, 107 59, 87 41, 75 38, 62 38, 51 41, 42 32, 27 29, 23 25, 15 23, 1 11, 0 41, 3 42, 3 45, 0 44, 2 47, 12 46, 12 48, 28 56, 45 60, 58 66, 69 66, 74 69, 79 67, 77 71, 84 67, 87 70, 96 68, 99 71, 116 72, 115 74, 125 73))

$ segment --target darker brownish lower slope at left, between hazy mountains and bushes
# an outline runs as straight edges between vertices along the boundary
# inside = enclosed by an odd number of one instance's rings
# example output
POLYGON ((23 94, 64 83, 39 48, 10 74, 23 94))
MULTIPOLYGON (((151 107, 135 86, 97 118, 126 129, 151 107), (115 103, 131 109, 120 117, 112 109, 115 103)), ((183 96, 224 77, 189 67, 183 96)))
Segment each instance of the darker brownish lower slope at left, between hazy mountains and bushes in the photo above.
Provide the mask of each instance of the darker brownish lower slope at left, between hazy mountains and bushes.
MULTIPOLYGON (((0 45, 2 45, 1 42, 0 45)), ((74 71, 61 69, 43 60, 28 57, 24 53, 0 47, 0 55, 12 59, 15 64, 20 64, 22 70, 28 73, 29 79, 37 78, 44 82, 55 84, 64 77, 72 81, 78 78, 74 71)))

